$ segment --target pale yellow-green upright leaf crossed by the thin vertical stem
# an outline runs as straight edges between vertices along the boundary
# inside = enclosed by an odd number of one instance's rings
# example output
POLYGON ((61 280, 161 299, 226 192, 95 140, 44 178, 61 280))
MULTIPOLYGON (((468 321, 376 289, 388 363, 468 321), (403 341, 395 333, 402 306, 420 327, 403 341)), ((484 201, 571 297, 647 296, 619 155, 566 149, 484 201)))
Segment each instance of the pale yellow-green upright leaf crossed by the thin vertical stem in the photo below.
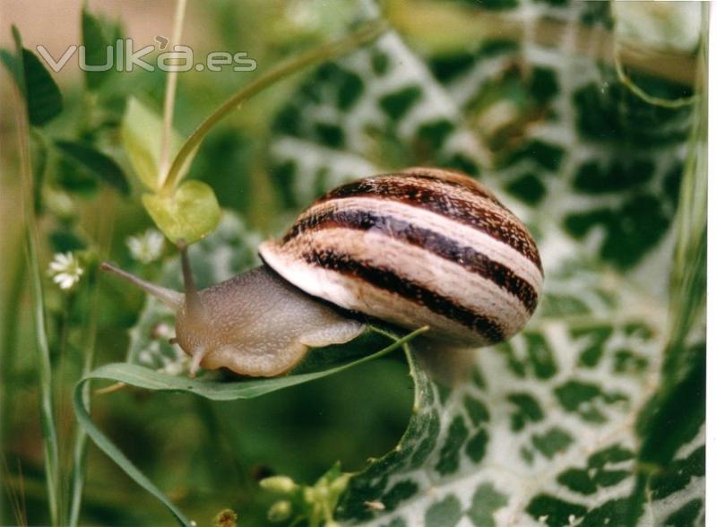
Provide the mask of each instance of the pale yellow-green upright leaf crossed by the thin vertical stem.
MULTIPOLYGON (((120 134, 125 152, 137 177, 148 189, 159 190, 163 134, 161 117, 138 99, 131 97, 127 101, 120 134)), ((182 143, 181 136, 172 131, 169 145, 170 159, 177 154, 182 143)))

